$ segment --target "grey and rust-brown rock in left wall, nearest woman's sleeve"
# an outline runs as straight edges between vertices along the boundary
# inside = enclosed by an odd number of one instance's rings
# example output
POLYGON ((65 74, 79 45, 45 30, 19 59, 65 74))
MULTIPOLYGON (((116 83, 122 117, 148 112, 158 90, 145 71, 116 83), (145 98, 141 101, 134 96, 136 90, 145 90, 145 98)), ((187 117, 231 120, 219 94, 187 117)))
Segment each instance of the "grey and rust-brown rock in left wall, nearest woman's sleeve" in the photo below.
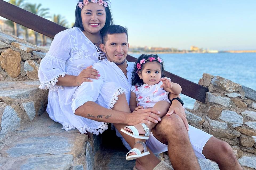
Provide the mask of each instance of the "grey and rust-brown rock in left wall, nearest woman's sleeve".
POLYGON ((39 66, 40 65, 36 63, 34 60, 27 60, 24 63, 24 70, 27 74, 27 77, 29 77, 32 80, 38 80, 39 66))

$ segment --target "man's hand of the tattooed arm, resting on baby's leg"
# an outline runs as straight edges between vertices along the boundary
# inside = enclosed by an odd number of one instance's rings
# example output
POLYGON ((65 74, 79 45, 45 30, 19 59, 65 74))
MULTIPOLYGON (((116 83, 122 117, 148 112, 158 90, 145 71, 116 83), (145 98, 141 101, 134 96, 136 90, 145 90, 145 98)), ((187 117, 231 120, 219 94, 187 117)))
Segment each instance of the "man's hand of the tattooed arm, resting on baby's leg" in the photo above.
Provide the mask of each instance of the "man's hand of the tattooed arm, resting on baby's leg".
POLYGON ((159 111, 148 108, 148 109, 139 109, 133 113, 128 113, 127 115, 127 125, 136 125, 139 123, 150 124, 150 122, 158 123, 161 121, 161 118, 157 116, 160 114, 159 111))

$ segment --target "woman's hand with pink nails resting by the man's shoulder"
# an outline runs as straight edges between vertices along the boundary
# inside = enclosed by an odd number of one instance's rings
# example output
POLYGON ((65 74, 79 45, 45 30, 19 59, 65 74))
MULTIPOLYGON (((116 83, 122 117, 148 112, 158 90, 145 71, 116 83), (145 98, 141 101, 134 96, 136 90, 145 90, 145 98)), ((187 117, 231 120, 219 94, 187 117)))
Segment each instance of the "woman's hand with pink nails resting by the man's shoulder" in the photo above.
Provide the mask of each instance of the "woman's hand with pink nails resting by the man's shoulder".
POLYGON ((76 77, 77 86, 80 86, 83 82, 92 82, 91 79, 99 79, 101 75, 99 75, 99 71, 92 68, 93 66, 89 66, 86 69, 83 69, 81 73, 76 77))

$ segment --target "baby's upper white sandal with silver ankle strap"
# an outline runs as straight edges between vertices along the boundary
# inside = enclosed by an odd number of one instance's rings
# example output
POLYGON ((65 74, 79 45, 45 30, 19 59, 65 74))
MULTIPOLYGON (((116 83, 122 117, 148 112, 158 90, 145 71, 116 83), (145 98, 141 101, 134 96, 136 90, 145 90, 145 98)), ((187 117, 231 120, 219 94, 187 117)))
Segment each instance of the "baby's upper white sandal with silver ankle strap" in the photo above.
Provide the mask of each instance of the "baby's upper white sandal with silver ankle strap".
POLYGON ((121 131, 123 133, 131 136, 131 137, 136 138, 136 139, 146 139, 147 140, 147 139, 149 139, 149 136, 151 134, 151 130, 149 129, 149 127, 147 127, 147 125, 145 123, 141 123, 141 125, 142 125, 142 127, 143 127, 143 129, 145 131, 145 135, 140 135, 138 129, 135 128, 134 126, 125 126, 125 128, 131 129, 131 131, 133 133, 131 133, 131 132, 129 132, 129 131, 123 129, 123 128, 121 129, 121 131))

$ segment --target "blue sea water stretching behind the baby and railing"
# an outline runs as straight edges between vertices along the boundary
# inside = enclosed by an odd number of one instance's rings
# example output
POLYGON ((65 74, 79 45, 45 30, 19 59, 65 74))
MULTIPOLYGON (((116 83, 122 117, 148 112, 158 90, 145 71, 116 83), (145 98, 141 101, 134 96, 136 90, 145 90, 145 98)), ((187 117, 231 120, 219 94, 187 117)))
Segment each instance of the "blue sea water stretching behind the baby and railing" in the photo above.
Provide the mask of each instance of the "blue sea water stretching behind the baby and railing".
MULTIPOLYGON (((139 57, 140 54, 130 54, 139 57)), ((220 76, 256 90, 256 53, 186 53, 158 54, 165 70, 198 83, 203 73, 220 76)), ((195 100, 181 95, 185 107, 192 109, 195 100)))

